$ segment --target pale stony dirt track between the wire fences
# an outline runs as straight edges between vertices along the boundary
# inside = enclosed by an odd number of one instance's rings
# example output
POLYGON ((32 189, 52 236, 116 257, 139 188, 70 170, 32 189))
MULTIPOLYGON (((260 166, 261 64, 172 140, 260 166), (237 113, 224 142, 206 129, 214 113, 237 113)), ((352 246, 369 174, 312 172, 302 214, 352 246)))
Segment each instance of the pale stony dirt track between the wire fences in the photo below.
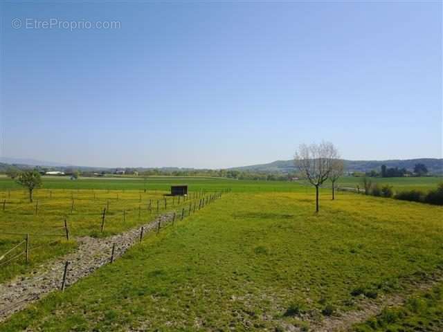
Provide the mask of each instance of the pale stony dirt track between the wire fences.
POLYGON ((66 261, 69 261, 66 277, 66 286, 69 286, 109 263, 114 243, 116 243, 114 252, 116 259, 140 241, 142 226, 144 233, 156 230, 159 223, 161 226, 170 223, 172 215, 172 212, 163 214, 150 223, 105 239, 78 237, 80 245, 75 252, 40 266, 26 277, 17 277, 10 282, 0 284, 0 322, 48 293, 60 290, 66 261))

